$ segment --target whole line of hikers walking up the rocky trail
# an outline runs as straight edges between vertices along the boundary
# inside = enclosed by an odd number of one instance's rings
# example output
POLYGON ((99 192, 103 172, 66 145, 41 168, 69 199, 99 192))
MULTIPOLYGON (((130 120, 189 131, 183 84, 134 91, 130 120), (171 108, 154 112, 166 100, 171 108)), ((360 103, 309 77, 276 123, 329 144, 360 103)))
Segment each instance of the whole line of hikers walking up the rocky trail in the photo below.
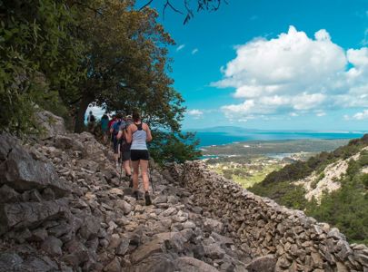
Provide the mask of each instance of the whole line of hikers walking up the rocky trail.
MULTIPOLYGON (((90 112, 87 117, 89 130, 90 128, 94 130, 95 120, 94 114, 90 112)), ((112 142, 116 170, 120 170, 121 177, 124 168, 125 177, 129 180, 129 187, 134 189, 133 196, 137 200, 139 197, 138 174, 141 170, 145 205, 151 205, 147 142, 152 141, 152 134, 149 126, 141 120, 138 112, 134 112, 132 115, 117 113, 113 115, 111 120, 107 113, 104 113, 101 118, 101 130, 103 131, 104 143, 107 143, 109 139, 112 142)))

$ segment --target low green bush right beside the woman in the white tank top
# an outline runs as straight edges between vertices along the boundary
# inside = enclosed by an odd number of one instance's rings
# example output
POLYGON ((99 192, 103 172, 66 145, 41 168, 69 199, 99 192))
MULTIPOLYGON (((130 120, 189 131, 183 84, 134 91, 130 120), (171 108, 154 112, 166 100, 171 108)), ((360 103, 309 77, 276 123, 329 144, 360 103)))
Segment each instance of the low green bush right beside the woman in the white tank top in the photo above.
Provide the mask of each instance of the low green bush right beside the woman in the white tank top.
POLYGON ((194 133, 152 132, 154 140, 150 143, 150 154, 160 164, 197 160, 202 155, 198 150, 199 141, 195 139, 194 133))

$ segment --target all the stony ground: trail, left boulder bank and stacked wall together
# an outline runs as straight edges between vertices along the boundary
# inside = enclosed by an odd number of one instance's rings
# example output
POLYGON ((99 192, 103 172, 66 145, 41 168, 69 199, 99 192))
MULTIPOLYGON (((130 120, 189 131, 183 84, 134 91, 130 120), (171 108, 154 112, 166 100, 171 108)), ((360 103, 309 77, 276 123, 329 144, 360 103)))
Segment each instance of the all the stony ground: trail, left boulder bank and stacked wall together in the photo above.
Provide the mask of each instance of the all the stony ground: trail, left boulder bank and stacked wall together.
POLYGON ((63 133, 27 144, 0 136, 0 271, 368 269, 365 246, 200 162, 154 167, 144 206, 108 149, 63 133))

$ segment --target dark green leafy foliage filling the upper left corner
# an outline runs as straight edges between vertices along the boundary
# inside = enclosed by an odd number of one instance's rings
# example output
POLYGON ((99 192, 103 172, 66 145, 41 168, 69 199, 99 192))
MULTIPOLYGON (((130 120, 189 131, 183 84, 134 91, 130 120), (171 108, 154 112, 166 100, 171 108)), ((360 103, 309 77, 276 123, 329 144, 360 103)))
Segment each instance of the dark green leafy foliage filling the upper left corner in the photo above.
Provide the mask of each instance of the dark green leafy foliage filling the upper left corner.
POLYGON ((0 131, 35 131, 35 104, 56 105, 59 93, 75 91, 75 13, 52 0, 1 1, 0 10, 0 131))

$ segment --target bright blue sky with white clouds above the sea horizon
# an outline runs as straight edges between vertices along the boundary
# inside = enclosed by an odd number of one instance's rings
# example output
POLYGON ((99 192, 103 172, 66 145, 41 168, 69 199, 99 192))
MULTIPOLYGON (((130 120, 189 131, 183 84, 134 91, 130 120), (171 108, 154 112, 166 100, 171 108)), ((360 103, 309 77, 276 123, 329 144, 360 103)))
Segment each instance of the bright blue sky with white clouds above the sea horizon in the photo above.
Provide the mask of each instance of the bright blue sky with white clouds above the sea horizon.
POLYGON ((184 129, 367 129, 368 1, 228 0, 185 25, 163 2, 184 129))

